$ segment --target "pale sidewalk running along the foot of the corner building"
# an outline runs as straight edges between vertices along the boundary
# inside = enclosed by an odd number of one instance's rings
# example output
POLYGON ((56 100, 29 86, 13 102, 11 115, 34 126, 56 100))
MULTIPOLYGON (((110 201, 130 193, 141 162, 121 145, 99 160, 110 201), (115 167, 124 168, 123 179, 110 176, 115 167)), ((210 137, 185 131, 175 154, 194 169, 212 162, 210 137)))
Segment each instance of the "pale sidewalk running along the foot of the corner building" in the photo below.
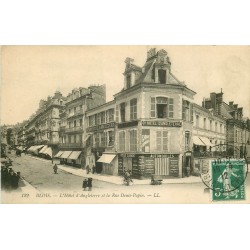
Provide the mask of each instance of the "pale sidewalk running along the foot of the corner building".
MULTIPOLYGON (((93 178, 94 180, 105 181, 105 182, 109 182, 109 183, 113 183, 117 185, 123 184, 123 178, 121 176, 92 174, 92 173, 87 174, 86 170, 74 168, 71 166, 65 166, 65 165, 58 165, 58 168, 65 172, 68 172, 77 176, 85 177, 85 178, 93 178)), ((133 182, 135 185, 140 185, 140 184, 147 185, 147 184, 150 184, 150 179, 146 179, 146 180, 133 179, 133 182)), ((184 184, 184 183, 200 183, 200 182, 202 182, 201 178, 196 177, 196 176, 190 176, 187 178, 163 179, 162 181, 162 183, 164 184, 184 184)))

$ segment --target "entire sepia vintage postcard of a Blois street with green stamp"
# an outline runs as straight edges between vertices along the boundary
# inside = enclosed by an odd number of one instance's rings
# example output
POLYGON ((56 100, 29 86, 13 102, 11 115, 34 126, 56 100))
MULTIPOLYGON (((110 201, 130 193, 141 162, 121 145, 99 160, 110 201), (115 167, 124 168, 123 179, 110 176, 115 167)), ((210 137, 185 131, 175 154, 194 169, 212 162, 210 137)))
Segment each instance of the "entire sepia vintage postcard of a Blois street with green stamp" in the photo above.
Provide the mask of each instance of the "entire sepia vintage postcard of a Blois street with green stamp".
POLYGON ((1 203, 250 203, 249 46, 2 46, 1 203))

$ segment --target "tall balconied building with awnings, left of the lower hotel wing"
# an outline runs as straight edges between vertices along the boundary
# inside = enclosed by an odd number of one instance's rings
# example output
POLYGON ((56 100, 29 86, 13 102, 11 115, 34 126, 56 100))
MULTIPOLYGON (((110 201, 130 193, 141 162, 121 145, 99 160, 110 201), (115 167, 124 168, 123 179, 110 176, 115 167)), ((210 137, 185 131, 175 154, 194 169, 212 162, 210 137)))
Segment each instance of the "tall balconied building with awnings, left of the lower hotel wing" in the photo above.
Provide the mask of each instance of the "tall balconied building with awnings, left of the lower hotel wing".
POLYGON ((62 162, 85 166, 85 113, 106 102, 106 87, 90 86, 73 89, 67 96, 65 110, 61 114, 60 151, 56 155, 62 162))

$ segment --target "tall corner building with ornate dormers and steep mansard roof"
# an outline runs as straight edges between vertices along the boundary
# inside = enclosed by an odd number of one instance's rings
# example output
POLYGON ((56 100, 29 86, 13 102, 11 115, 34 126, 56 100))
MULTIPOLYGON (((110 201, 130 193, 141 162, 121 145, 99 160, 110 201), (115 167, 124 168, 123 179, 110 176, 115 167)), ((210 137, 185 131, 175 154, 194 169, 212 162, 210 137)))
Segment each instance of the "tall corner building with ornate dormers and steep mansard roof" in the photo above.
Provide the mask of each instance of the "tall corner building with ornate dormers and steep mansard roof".
MULTIPOLYGON (((103 139, 104 151, 96 162, 110 164, 110 174, 122 175, 130 169, 134 178, 152 174, 182 177, 186 152, 192 152, 196 93, 171 73, 165 50, 148 51, 143 67, 133 62, 126 59, 124 87, 114 95, 116 139, 112 156, 103 139)), ((101 107, 95 109, 99 111, 101 107)), ((92 135, 96 137, 95 132, 92 135)))

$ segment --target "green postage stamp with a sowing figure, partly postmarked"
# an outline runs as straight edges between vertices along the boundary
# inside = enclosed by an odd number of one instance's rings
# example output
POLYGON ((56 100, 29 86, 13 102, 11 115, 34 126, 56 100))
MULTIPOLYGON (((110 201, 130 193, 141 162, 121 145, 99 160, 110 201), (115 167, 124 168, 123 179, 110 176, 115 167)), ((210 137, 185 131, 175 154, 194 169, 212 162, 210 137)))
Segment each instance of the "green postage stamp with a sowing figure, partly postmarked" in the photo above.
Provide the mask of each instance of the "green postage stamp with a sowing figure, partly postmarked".
POLYGON ((210 164, 212 200, 244 200, 245 194, 245 160, 216 160, 210 164))

